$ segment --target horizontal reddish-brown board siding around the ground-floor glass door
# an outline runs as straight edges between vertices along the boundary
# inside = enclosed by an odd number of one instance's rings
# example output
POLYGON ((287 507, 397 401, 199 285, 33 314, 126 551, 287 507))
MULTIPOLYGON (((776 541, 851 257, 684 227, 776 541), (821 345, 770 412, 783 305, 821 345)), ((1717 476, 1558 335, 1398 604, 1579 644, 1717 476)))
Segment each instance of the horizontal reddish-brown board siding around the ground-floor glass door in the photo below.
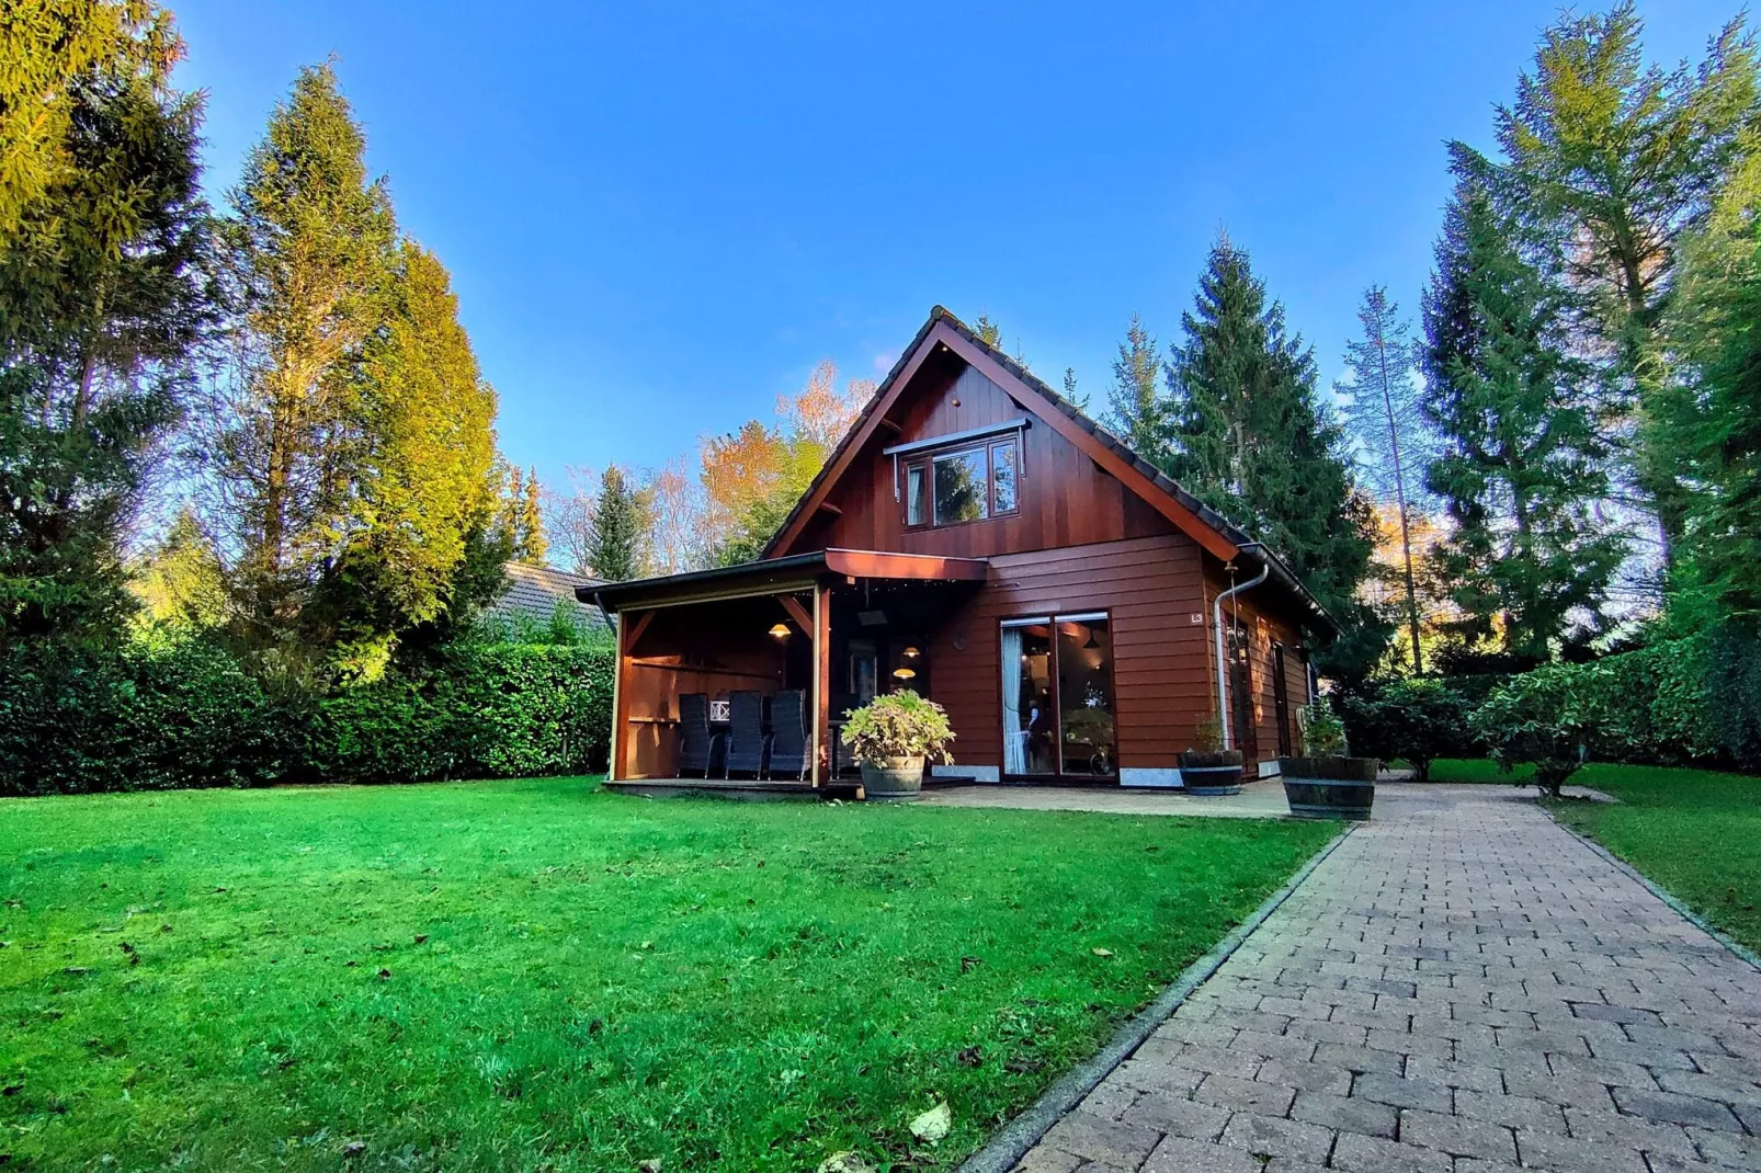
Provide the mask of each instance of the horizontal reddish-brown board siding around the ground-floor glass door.
POLYGON ((1002 620, 1108 611, 1120 766, 1176 766, 1212 710, 1205 579, 1182 534, 991 558, 991 581, 930 641, 932 697, 947 708, 954 759, 1002 764, 1002 620))

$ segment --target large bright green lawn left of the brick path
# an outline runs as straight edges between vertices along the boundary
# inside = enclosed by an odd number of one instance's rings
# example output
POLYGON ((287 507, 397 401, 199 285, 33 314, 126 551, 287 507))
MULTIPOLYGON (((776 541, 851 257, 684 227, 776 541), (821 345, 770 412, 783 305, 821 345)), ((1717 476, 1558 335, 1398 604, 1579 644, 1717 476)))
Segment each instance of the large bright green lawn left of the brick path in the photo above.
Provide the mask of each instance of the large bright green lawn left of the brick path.
POLYGON ((4 800, 0 1164, 951 1168, 1335 830, 579 778, 4 800))

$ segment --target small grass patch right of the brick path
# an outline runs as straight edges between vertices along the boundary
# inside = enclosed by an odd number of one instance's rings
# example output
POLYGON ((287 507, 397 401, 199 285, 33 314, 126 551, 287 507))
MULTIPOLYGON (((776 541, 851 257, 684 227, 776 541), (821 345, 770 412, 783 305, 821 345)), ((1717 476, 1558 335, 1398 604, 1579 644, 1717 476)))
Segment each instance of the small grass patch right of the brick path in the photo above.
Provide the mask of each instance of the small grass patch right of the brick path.
POLYGON ((1620 801, 1555 803, 1562 823, 1761 951, 1761 778, 1599 763, 1571 782, 1620 801))

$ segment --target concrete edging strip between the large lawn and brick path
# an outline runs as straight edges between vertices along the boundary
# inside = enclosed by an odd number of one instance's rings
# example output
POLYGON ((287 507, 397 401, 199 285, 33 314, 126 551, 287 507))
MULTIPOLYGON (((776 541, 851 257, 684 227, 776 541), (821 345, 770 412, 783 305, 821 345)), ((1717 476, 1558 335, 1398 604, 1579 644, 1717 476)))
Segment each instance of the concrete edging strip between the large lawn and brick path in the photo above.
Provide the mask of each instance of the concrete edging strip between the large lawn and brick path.
POLYGON ((1308 863, 1296 868, 1275 893, 1266 896, 1264 904, 1254 909, 1245 921, 1229 930, 1229 933, 1212 946, 1210 953, 1199 960, 1187 965, 1187 969, 1175 979, 1171 986, 1162 990, 1162 993, 1150 1002, 1139 1014, 1129 1018, 1113 1039, 1102 1046, 1092 1059, 1078 1064, 1071 1071, 1065 1071, 1057 1083, 1053 1083, 1046 1092, 1034 1101, 1023 1113, 1002 1125, 976 1154, 967 1157, 958 1173, 1009 1173, 1027 1150, 1039 1143, 1039 1140, 1051 1131, 1051 1125, 1064 1118, 1076 1104, 1083 1101, 1088 1092, 1099 1087, 1101 1080, 1113 1074, 1113 1069, 1122 1062, 1131 1059, 1131 1055, 1143 1046, 1143 1041, 1150 1034, 1168 1022, 1180 1004, 1185 1002, 1194 990, 1197 990, 1205 981, 1222 969, 1222 963, 1242 948, 1242 942, 1259 928, 1268 916, 1271 916, 1280 904, 1291 898, 1291 893, 1308 875, 1321 867, 1321 863, 1333 854, 1333 849, 1345 842, 1345 837, 1358 828, 1356 823, 1345 824, 1338 835, 1335 835, 1321 851, 1308 858, 1308 863))

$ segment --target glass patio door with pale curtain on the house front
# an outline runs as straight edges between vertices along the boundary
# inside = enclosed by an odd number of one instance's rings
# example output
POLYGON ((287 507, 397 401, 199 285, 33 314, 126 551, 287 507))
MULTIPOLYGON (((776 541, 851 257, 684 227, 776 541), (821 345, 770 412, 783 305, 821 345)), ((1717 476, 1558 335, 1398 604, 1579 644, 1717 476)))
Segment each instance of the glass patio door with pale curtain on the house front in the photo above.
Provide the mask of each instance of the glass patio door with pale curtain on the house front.
POLYGON ((1116 778, 1113 717, 1113 639, 1104 611, 1002 625, 1004 777, 1116 778))

